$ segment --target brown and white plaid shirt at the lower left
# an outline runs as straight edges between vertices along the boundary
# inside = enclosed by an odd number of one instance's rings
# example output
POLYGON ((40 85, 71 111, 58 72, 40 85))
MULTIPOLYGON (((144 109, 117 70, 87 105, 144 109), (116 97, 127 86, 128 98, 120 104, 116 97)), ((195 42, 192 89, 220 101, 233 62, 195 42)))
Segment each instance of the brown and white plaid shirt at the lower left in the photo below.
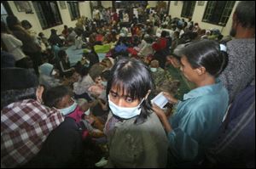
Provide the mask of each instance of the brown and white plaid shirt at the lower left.
POLYGON ((64 117, 33 99, 9 104, 1 110, 1 168, 15 167, 37 155, 49 133, 64 117))

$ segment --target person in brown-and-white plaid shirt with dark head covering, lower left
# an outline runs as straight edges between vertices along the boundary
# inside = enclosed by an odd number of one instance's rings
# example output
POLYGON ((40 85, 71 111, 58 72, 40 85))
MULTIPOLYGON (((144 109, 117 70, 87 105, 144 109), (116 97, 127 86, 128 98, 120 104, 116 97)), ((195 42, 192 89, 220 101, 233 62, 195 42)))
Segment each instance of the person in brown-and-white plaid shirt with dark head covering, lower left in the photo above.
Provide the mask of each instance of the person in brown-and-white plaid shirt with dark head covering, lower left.
POLYGON ((41 104, 43 91, 31 70, 1 70, 1 167, 30 161, 64 121, 61 112, 41 104))

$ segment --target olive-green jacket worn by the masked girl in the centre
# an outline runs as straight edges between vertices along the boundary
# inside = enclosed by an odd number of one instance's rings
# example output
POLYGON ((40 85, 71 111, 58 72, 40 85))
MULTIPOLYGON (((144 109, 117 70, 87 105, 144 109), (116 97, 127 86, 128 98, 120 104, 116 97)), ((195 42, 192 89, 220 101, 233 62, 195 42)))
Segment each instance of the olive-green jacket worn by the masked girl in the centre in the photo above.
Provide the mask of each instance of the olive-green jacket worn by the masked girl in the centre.
MULTIPOLYGON (((105 129, 111 118, 109 113, 105 129)), ((159 118, 152 113, 143 124, 135 120, 117 121, 108 132, 107 167, 166 167, 168 141, 159 118)))

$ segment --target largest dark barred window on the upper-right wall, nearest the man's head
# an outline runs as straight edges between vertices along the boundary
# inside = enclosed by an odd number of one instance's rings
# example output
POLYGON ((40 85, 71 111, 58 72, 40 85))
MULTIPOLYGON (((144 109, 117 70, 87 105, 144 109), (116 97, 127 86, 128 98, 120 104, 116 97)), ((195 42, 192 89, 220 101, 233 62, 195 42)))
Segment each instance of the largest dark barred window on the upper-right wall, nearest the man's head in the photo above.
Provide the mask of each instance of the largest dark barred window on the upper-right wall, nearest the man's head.
POLYGON ((236 1, 208 1, 202 21, 225 26, 236 1))

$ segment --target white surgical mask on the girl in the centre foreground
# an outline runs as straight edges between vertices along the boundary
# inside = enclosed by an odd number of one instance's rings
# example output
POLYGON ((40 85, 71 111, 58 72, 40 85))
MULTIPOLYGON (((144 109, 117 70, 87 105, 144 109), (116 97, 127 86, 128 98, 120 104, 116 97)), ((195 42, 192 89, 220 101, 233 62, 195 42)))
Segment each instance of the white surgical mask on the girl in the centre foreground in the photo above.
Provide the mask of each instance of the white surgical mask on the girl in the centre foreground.
POLYGON ((109 104, 109 107, 110 107, 113 115, 117 115, 122 119, 130 119, 134 116, 140 115, 141 111, 142 111, 140 106, 142 103, 143 103, 143 101, 140 104, 138 104, 136 107, 120 107, 120 106, 114 104, 109 99, 109 95, 108 95, 108 104, 109 104))

